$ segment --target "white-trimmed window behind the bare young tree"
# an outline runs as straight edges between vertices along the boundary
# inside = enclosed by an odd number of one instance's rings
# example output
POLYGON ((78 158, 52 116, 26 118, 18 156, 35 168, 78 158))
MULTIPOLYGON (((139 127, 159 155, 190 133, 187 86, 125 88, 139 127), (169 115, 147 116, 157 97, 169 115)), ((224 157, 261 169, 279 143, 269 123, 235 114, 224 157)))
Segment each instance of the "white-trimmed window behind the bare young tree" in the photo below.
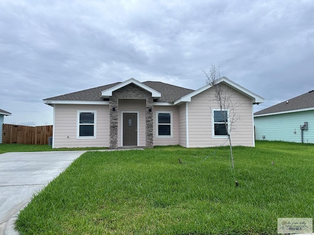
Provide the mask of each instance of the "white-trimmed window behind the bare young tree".
POLYGON ((212 123, 212 136, 213 137, 223 137, 228 136, 228 132, 230 131, 229 125, 229 111, 228 110, 220 110, 220 109, 212 109, 211 110, 211 123, 212 123), (227 124, 227 129, 226 125, 227 124))

